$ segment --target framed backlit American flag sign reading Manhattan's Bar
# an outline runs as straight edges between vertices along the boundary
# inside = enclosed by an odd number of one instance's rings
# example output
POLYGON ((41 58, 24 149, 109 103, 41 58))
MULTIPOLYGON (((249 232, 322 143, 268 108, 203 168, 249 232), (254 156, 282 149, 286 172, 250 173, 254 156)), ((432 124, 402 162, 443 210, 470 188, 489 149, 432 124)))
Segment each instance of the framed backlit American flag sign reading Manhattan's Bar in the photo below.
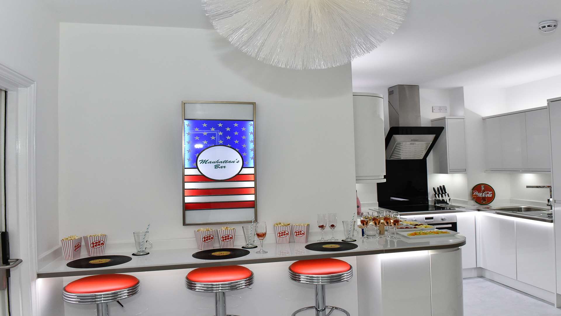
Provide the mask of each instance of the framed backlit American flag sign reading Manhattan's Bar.
POLYGON ((183 101, 183 225, 257 220, 255 102, 183 101))

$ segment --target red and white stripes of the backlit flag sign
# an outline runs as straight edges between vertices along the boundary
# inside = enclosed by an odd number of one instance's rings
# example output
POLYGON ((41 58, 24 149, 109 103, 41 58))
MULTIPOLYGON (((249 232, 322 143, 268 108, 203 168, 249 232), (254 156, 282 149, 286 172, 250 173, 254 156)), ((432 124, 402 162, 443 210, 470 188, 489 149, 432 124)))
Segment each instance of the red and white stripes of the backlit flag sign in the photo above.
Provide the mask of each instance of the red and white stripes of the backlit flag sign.
POLYGON ((206 178, 196 168, 184 175, 185 210, 251 209, 255 207, 255 169, 242 168, 232 179, 206 178))

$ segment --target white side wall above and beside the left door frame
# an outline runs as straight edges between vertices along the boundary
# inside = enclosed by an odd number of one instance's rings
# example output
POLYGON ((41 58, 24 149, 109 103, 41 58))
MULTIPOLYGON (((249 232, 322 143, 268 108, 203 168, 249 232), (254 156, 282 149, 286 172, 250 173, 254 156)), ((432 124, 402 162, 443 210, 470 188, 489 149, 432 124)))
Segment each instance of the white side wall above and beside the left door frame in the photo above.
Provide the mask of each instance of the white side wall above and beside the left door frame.
POLYGON ((0 4, 0 29, 0 64, 37 83, 37 252, 41 255, 59 243, 58 22, 42 1, 6 0, 0 4))

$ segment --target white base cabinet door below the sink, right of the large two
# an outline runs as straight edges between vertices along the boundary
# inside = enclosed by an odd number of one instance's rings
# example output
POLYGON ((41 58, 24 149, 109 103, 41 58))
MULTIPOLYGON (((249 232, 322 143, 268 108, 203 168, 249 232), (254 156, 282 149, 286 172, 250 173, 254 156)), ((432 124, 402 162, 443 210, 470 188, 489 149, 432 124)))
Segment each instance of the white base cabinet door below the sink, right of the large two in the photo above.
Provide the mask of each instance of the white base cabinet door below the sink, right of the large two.
POLYGON ((555 292, 553 224, 515 223, 517 280, 555 292))

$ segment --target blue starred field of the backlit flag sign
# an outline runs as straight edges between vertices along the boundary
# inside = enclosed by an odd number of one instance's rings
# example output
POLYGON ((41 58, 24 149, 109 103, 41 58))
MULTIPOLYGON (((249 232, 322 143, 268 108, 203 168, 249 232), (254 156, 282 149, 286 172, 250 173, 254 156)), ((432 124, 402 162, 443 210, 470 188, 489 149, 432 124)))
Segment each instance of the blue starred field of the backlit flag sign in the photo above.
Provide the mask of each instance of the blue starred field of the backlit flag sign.
POLYGON ((196 168, 196 157, 206 147, 230 146, 240 152, 244 167, 254 167, 253 121, 185 120, 185 168, 196 168))

